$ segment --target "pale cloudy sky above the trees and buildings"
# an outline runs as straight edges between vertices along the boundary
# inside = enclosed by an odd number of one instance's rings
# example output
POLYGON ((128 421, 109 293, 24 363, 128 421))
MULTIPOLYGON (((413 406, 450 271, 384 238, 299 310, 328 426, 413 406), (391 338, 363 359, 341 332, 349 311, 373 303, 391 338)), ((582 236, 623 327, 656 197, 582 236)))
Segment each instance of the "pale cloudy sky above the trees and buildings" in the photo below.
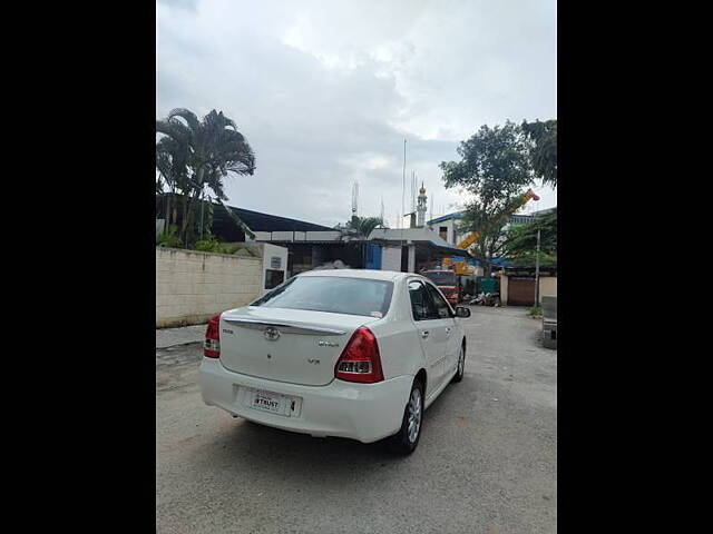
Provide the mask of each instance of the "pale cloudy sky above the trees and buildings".
MULTIPOLYGON (((231 206, 325 226, 400 224, 411 174, 433 217, 467 197, 441 161, 481 125, 557 118, 557 6, 530 0, 158 0, 156 112, 212 109, 255 152, 231 206), (432 205, 432 208, 431 208, 432 205)), ((540 200, 556 190, 537 184, 540 200)))

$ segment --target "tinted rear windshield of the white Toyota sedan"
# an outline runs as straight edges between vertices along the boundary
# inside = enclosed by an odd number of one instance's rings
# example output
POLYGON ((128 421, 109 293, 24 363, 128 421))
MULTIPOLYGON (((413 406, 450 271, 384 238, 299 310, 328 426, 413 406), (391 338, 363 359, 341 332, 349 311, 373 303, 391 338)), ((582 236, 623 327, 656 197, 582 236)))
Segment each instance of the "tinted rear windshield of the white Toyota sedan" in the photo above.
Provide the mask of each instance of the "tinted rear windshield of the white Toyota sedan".
POLYGON ((389 312, 392 291, 393 283, 385 280, 296 276, 252 306, 383 317, 389 312))

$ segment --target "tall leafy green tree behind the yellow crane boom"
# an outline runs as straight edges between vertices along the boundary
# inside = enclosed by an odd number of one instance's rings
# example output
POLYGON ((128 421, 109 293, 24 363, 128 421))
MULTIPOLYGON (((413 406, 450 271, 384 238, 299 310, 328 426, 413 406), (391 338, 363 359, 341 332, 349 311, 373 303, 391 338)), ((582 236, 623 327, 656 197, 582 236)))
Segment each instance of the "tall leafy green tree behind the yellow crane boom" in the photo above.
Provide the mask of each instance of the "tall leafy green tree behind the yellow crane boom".
POLYGON ((442 161, 446 188, 458 187, 472 196, 466 202, 460 231, 478 231, 470 254, 480 260, 484 275, 492 271, 492 259, 505 246, 508 216, 521 202, 522 189, 533 184, 528 141, 520 127, 507 121, 484 125, 458 146, 460 161, 442 161))

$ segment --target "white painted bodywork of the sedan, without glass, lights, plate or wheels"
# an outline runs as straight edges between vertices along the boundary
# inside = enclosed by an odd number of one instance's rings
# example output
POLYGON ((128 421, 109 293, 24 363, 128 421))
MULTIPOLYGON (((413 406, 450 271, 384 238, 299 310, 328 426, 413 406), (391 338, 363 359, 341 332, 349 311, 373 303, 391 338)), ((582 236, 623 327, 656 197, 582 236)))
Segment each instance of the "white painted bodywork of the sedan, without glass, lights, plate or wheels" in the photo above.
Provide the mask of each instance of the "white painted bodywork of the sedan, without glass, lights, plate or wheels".
POLYGON ((219 323, 221 358, 204 357, 201 364, 204 402, 263 425, 313 436, 371 443, 395 434, 419 370, 427 374, 424 408, 457 373, 465 339, 458 324, 461 319, 413 320, 408 281, 418 279, 436 287, 419 275, 339 269, 299 276, 392 281, 389 310, 382 318, 261 306, 225 312, 219 323), (276 340, 263 338, 270 325, 281 329, 276 340), (367 326, 377 338, 382 382, 359 384, 334 377, 335 363, 360 326, 367 326), (429 332, 426 338, 423 330, 429 332), (296 399, 296 407, 289 415, 255 409, 245 402, 255 389, 296 399))

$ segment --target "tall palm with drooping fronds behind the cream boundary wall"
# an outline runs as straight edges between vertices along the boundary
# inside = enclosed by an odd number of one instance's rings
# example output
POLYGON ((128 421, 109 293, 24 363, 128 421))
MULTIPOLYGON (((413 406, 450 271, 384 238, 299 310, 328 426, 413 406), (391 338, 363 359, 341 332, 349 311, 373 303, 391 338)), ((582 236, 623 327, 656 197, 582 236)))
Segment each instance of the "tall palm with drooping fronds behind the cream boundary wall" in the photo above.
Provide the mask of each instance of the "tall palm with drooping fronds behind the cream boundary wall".
POLYGON ((255 155, 245 137, 237 131, 235 122, 224 116, 223 111, 217 112, 215 109, 203 120, 198 120, 193 111, 177 108, 172 110, 166 119, 156 121, 156 131, 170 140, 164 141, 166 138, 163 138, 157 144, 157 167, 162 165, 167 174, 162 171, 160 167, 159 171, 164 179, 170 175, 172 179, 180 177, 182 180, 183 243, 187 245, 194 241, 195 207, 206 187, 215 194, 218 204, 236 224, 253 237, 245 224, 223 204, 223 200, 227 200, 223 178, 231 172, 255 172, 255 155), (176 169, 169 170, 167 167, 166 152, 170 154, 170 166, 176 166, 176 169), (162 157, 164 159, 159 161, 162 157), (178 171, 182 166, 186 169, 185 176, 178 171))

